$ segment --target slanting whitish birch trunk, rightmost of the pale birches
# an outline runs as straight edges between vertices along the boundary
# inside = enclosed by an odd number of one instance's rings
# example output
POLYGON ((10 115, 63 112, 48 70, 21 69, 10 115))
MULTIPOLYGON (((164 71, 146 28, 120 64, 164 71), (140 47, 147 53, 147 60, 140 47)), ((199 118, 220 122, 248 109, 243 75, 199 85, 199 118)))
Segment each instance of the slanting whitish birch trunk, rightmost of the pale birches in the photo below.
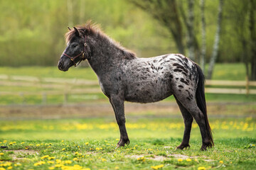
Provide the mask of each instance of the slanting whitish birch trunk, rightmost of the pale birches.
POLYGON ((221 28, 221 21, 222 21, 222 11, 223 11, 223 0, 220 0, 220 4, 218 7, 217 30, 215 33, 213 52, 210 57, 210 64, 209 64, 209 68, 208 68, 207 79, 211 79, 213 76, 213 69, 214 69, 214 65, 215 65, 215 62, 216 62, 217 56, 218 56, 218 46, 219 46, 219 42, 220 42, 220 28, 221 28))

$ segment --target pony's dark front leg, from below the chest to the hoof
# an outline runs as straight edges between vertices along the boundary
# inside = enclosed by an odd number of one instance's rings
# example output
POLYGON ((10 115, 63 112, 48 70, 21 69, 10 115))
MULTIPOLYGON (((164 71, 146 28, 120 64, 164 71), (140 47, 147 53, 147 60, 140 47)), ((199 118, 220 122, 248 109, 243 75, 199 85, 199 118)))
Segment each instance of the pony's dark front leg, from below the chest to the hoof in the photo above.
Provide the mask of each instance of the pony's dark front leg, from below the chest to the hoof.
POLYGON ((117 143, 117 147, 124 147, 125 144, 129 144, 129 138, 127 135, 127 130, 125 128, 125 117, 124 117, 124 100, 118 96, 112 96, 110 98, 110 103, 114 109, 114 115, 119 125, 120 130, 120 140, 117 143))

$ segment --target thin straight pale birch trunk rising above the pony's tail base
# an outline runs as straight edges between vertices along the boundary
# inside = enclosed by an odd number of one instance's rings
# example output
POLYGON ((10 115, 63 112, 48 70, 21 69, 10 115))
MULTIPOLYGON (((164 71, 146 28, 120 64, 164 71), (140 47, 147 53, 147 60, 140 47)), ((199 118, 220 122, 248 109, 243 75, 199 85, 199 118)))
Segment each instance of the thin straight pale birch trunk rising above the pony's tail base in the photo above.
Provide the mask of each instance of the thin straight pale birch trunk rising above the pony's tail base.
POLYGON ((201 22, 202 22, 202 46, 201 46, 201 68, 205 71, 205 59, 206 59, 206 19, 205 19, 205 1, 201 0, 201 22))

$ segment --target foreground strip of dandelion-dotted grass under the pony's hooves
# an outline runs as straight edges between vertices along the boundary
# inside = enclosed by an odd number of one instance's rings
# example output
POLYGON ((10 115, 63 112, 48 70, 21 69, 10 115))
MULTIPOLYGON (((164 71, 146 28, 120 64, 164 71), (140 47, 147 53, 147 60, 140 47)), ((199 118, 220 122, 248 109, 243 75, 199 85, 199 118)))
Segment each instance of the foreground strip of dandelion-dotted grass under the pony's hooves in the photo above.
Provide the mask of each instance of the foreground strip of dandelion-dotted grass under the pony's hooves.
POLYGON ((119 130, 112 119, 1 120, 0 145, 9 148, 0 150, 0 167, 256 169, 256 120, 210 119, 210 123, 215 147, 201 152, 196 124, 191 132, 191 148, 176 149, 183 136, 181 118, 129 118, 127 131, 131 143, 118 149, 115 146, 119 130))

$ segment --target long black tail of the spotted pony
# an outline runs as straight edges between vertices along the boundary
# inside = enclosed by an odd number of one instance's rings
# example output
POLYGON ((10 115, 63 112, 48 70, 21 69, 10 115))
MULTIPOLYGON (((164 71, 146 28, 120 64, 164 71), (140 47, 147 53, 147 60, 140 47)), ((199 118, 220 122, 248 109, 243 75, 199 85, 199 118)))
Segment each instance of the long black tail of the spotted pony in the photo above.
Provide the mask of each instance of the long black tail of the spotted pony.
POLYGON ((213 142, 213 134, 210 130, 210 124, 208 121, 208 116, 207 116, 207 108, 206 108, 206 96, 205 96, 205 87, 204 87, 204 82, 205 82, 205 77, 203 75, 202 69, 196 64, 196 69, 198 71, 198 86, 196 89, 196 103, 198 108, 203 112, 204 118, 205 118, 205 123, 206 123, 206 132, 208 137, 210 137, 210 145, 209 147, 212 147, 214 145, 213 142))

